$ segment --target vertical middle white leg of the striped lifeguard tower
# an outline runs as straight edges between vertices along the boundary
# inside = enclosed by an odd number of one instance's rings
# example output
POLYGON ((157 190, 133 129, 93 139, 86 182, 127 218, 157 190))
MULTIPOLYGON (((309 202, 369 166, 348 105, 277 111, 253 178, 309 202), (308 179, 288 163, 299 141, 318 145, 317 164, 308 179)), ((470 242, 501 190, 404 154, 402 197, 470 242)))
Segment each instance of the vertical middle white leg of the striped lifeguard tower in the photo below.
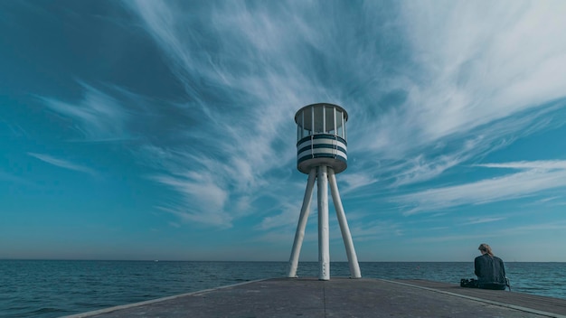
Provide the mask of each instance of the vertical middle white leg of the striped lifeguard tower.
POLYGON ((330 248, 328 236, 328 176, 326 166, 318 166, 318 279, 330 279, 330 248))

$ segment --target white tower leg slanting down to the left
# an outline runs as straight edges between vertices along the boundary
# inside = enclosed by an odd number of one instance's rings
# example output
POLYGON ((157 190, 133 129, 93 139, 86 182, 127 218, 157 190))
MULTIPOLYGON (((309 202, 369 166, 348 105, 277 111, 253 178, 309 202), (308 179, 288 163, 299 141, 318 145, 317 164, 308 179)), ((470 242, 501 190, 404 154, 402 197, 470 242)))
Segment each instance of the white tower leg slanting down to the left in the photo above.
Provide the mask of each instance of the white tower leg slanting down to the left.
POLYGON ((313 199, 313 189, 315 187, 316 167, 308 173, 307 189, 305 190, 305 197, 303 198, 303 207, 301 214, 298 218, 297 231, 295 232, 295 241, 293 242, 293 249, 291 250, 291 257, 289 258, 289 272, 288 277, 297 277, 298 256, 301 252, 303 239, 305 238, 305 228, 307 227, 308 213, 310 211, 310 201, 313 199))

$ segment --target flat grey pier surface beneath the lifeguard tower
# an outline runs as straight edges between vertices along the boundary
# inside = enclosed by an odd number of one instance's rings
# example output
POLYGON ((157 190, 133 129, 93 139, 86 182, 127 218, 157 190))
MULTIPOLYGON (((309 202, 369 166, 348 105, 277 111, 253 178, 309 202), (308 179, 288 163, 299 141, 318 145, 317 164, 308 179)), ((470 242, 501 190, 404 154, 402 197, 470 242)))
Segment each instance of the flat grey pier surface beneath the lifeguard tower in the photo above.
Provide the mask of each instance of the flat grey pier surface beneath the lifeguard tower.
POLYGON ((426 280, 273 278, 69 317, 566 317, 566 300, 426 280))

